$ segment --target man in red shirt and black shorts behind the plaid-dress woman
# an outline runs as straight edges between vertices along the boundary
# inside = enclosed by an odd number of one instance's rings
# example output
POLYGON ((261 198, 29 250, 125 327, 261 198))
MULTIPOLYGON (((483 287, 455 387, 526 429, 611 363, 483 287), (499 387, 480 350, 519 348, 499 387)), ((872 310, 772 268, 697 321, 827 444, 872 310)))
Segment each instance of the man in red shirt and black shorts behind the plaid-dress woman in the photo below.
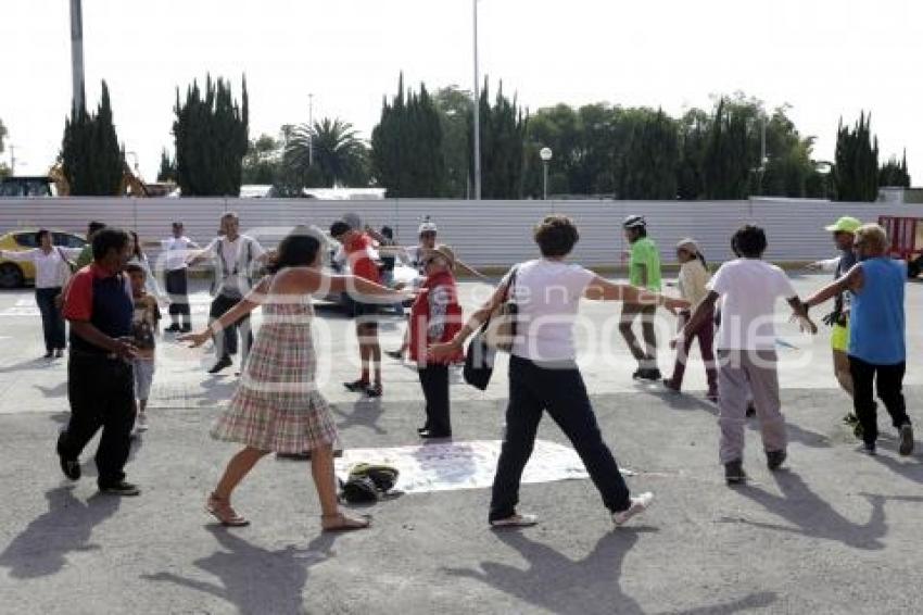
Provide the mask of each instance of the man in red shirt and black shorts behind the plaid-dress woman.
MULTIPOLYGON (((354 276, 381 284, 375 241, 365 233, 340 221, 330 227, 330 236, 343 244, 350 269, 354 276)), ((379 304, 365 303, 363 297, 351 292, 355 300, 356 337, 359 340, 362 375, 354 382, 344 382, 351 391, 363 392, 367 397, 381 397, 381 346, 378 343, 378 322, 375 319, 379 304), (375 381, 369 374, 374 371, 375 381)))

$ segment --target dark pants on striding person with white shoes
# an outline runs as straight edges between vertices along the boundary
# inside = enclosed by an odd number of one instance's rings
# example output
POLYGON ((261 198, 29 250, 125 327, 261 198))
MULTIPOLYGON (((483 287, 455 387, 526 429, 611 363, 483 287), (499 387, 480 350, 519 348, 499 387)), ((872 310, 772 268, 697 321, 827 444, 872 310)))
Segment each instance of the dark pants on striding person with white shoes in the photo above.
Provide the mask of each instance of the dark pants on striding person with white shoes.
POLYGON ((580 371, 576 366, 541 367, 511 356, 506 435, 494 477, 490 520, 506 518, 516 512, 522 469, 532 454, 545 410, 583 460, 606 507, 612 512, 628 509, 631 505, 628 486, 612 452, 603 441, 580 371))

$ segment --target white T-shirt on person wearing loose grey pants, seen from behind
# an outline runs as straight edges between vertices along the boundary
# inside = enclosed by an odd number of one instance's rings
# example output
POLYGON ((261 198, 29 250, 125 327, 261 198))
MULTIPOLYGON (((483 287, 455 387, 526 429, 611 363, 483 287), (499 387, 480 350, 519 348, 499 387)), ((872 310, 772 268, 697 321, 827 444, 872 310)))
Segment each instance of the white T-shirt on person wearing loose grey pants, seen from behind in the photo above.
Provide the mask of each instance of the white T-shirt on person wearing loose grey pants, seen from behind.
POLYGON ((775 349, 775 302, 798 296, 785 272, 759 259, 737 259, 721 265, 707 288, 722 298, 716 348, 775 349))

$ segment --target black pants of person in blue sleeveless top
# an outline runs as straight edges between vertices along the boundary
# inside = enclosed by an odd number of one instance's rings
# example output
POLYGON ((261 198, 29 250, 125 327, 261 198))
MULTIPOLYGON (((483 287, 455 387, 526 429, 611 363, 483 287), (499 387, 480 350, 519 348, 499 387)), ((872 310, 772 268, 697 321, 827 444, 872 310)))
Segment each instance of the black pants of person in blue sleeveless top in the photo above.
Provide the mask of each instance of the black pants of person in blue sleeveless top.
POLYGON ((873 388, 877 388, 878 399, 890 414, 892 425, 900 427, 910 423, 907 404, 903 401, 903 372, 906 363, 896 365, 874 365, 852 355, 849 356, 849 372, 852 374, 852 406, 862 426, 862 439, 874 442, 878 438, 877 404, 873 388))

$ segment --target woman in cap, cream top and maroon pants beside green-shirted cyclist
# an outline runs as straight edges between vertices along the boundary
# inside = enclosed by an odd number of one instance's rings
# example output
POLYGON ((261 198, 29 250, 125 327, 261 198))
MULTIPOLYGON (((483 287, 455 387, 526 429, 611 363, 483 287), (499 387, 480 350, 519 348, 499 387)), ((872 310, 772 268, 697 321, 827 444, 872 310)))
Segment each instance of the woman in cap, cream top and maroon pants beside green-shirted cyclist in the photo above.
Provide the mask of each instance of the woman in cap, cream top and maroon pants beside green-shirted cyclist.
POLYGON ((701 360, 705 362, 705 374, 708 378, 708 393, 706 397, 711 402, 718 401, 718 371, 715 367, 715 314, 709 315, 703 322, 701 327, 696 330, 685 330, 690 314, 698 308, 701 300, 708 294, 706 285, 711 279, 705 256, 698 244, 693 239, 683 239, 677 244, 677 260, 680 262, 679 288, 680 297, 690 302, 690 309, 680 312, 678 330, 683 331, 681 339, 670 342, 677 349, 677 363, 673 366, 673 376, 663 379, 663 386, 671 391, 680 392, 683 386, 683 375, 686 371, 690 347, 698 338, 698 348, 701 351, 701 360))

